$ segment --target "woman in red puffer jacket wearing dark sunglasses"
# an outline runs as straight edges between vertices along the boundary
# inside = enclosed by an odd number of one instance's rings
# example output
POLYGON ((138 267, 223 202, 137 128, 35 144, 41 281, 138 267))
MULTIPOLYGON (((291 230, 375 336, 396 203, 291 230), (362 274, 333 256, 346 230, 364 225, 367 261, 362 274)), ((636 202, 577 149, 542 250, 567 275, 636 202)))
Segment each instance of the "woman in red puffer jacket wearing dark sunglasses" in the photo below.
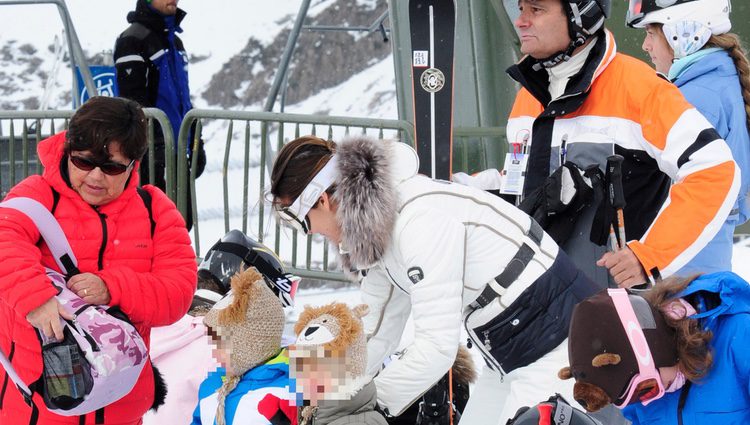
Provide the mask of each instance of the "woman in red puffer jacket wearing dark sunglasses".
MULTIPOLYGON (((28 197, 52 211, 81 273, 68 287, 89 304, 119 306, 148 344, 151 327, 171 324, 190 307, 195 253, 182 216, 159 189, 139 196, 138 165, 146 151, 146 118, 134 102, 95 97, 69 130, 39 143, 44 173, 21 181, 6 199, 28 197)), ((0 208, 0 349, 21 379, 39 379, 36 328, 61 339, 60 306, 44 268, 58 269, 36 226, 0 208)), ((0 423, 31 423, 32 409, 0 369, 0 423)), ((133 390, 83 418, 55 415, 34 394, 40 424, 139 424, 154 403, 154 371, 144 367, 133 390)))

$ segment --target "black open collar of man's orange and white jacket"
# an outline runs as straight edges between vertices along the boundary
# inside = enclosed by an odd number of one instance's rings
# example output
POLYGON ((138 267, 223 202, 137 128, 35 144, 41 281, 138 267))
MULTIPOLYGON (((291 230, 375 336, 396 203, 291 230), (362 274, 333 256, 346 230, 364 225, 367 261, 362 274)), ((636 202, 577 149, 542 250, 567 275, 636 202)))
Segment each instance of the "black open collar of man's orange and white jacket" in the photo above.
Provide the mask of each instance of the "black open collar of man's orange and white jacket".
MULTIPOLYGON (((585 94, 588 93, 594 81, 604 72, 616 54, 617 45, 614 36, 609 30, 605 29, 604 36, 597 38, 596 44, 591 49, 583 68, 570 78, 565 93, 556 99, 555 103, 575 98, 579 100, 577 103, 583 103, 585 94)), ((537 62, 538 60, 527 55, 519 63, 508 68, 506 72, 511 78, 528 90, 542 105, 547 106, 551 100, 549 94, 549 74, 544 68, 535 70, 534 65, 537 62)), ((580 106, 580 104, 577 106, 580 106)), ((572 110, 573 108, 567 107, 565 109, 572 110)))

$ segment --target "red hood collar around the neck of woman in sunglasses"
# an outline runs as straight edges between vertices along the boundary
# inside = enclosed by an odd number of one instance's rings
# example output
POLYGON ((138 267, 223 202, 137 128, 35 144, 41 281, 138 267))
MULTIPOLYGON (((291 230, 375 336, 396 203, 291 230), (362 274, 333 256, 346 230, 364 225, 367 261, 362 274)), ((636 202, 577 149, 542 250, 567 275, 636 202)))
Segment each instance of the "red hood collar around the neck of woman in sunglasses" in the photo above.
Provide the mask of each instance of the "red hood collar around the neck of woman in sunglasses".
MULTIPOLYGON (((39 161, 41 161, 42 166, 44 166, 42 177, 60 194, 61 197, 71 198, 76 200, 76 202, 85 204, 85 201, 81 198, 78 192, 73 190, 68 184, 69 180, 67 176, 63 177, 62 175, 62 170, 67 169, 66 166, 63 166, 63 161, 67 161, 67 158, 64 158, 66 134, 67 132, 58 133, 39 142, 39 145, 37 146, 37 155, 39 156, 39 161)), ((136 161, 133 169, 130 170, 130 178, 125 185, 125 190, 123 190, 122 194, 112 202, 102 205, 99 208, 100 211, 106 210, 108 214, 115 214, 123 208, 130 197, 136 195, 136 188, 138 187, 139 179, 139 166, 140 161, 136 161)))

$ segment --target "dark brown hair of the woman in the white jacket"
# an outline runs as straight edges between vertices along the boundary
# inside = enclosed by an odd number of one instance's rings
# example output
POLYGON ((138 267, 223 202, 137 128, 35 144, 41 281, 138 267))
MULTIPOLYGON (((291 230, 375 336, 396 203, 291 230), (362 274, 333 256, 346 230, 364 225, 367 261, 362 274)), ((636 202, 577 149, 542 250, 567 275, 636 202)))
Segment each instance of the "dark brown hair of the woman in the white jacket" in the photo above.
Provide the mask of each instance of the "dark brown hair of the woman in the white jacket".
MULTIPOLYGON (((284 145, 271 172, 274 202, 294 201, 336 152, 336 143, 315 136, 303 136, 284 145)), ((334 186, 326 192, 333 193, 334 186)))

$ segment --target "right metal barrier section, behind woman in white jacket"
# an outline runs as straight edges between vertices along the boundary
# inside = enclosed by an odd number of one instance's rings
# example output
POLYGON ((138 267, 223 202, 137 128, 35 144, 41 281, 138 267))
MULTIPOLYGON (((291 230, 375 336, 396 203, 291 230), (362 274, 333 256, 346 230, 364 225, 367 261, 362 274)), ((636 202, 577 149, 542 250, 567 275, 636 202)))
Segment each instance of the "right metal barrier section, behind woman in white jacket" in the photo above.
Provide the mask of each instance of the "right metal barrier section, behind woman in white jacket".
MULTIPOLYGON (((183 214, 188 198, 193 214, 193 240, 198 256, 233 228, 242 230, 271 247, 293 273, 324 280, 344 280, 328 242, 318 236, 299 235, 279 227, 272 217, 264 190, 270 184, 275 153, 287 142, 303 135, 340 140, 355 133, 379 139, 396 139, 413 145, 412 125, 406 121, 244 112, 193 110, 182 123, 177 149, 184 152, 188 142, 197 146, 197 135, 206 142, 208 165, 204 174, 189 178, 187 164, 176 167, 177 205, 183 214), (196 137, 188 141, 190 128, 196 137), (223 145, 222 145, 223 142, 223 145), (220 165, 216 157, 222 158, 220 165), (213 158, 212 158, 213 157, 213 158), (187 196, 189 186, 191 196, 187 196), (221 191, 219 192, 219 188, 221 191)), ((486 168, 496 159, 487 158, 489 143, 504 142, 503 128, 456 129, 454 168, 473 172, 486 168)), ((195 171, 195 160, 191 164, 195 171)), ((190 174, 190 175, 194 175, 190 174)))

